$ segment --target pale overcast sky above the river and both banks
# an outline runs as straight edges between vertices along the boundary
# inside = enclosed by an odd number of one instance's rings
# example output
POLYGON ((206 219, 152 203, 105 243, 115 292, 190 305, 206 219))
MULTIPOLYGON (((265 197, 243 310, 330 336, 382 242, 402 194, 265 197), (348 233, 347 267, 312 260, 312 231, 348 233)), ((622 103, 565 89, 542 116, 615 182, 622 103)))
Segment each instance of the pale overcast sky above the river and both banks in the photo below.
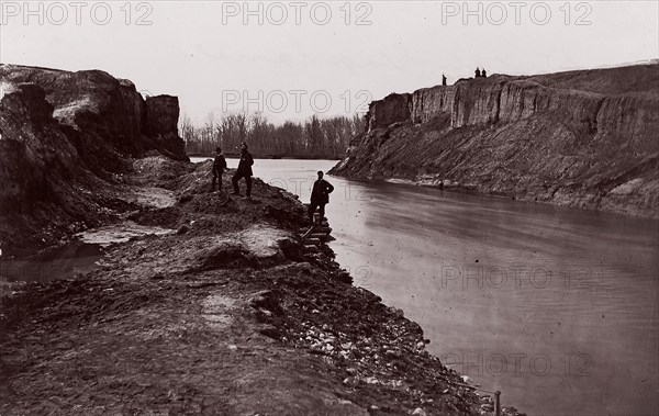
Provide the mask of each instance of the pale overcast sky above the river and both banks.
POLYGON ((477 66, 532 75, 656 59, 658 4, 3 0, 0 61, 102 69, 178 95, 198 121, 245 109, 281 122, 351 114, 477 66))

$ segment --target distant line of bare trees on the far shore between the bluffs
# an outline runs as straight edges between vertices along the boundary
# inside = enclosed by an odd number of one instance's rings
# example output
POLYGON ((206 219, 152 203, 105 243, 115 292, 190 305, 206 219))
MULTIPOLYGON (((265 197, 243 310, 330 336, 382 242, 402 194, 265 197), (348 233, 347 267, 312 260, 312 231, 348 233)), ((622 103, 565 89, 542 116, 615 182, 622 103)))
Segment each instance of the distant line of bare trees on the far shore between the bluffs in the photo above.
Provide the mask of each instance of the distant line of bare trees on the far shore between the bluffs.
POLYGON ((237 155, 241 143, 246 142, 255 156, 310 159, 344 157, 350 139, 364 126, 364 117, 358 114, 331 119, 313 115, 305 122, 275 125, 261 113, 224 114, 219 120, 210 114, 201 126, 186 114, 179 125, 190 156, 212 155, 217 146, 226 155, 237 155))

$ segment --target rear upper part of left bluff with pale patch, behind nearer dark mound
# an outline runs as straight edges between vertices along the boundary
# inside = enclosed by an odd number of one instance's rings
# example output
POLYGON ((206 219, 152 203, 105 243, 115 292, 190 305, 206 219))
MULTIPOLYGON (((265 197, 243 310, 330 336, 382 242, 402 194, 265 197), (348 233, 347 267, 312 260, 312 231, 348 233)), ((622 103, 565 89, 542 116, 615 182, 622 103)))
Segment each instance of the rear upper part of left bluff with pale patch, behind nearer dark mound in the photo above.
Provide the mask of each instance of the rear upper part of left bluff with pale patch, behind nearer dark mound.
POLYGON ((175 97, 144 100, 133 82, 100 70, 69 72, 2 65, 0 80, 41 87, 55 108, 54 119, 83 158, 90 159, 90 166, 116 169, 104 166, 110 159, 103 155, 105 151, 143 157, 148 150, 158 150, 172 159, 189 160, 178 136, 175 97))

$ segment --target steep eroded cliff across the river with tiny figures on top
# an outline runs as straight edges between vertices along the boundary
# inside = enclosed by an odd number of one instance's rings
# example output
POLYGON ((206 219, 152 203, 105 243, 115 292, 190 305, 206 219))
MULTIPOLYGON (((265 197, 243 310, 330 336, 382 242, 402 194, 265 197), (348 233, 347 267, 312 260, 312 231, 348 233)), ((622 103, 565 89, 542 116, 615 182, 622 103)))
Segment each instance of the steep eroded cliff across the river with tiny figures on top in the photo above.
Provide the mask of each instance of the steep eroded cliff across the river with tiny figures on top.
POLYGON ((334 173, 658 216, 657 65, 461 80, 367 121, 334 173))

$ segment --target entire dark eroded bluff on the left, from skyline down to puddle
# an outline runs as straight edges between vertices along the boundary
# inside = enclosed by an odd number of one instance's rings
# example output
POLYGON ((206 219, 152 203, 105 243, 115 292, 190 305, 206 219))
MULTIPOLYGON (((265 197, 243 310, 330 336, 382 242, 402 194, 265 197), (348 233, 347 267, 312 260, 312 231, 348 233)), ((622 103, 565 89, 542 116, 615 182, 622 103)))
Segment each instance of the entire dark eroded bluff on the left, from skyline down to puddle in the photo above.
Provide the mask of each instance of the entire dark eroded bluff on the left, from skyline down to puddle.
POLYGON ((0 66, 0 245, 55 244, 119 203, 111 189, 148 150, 188 160, 178 100, 146 101, 126 80, 92 70, 0 66))

